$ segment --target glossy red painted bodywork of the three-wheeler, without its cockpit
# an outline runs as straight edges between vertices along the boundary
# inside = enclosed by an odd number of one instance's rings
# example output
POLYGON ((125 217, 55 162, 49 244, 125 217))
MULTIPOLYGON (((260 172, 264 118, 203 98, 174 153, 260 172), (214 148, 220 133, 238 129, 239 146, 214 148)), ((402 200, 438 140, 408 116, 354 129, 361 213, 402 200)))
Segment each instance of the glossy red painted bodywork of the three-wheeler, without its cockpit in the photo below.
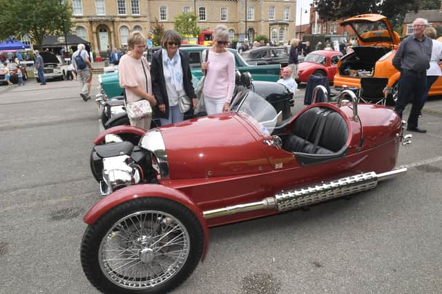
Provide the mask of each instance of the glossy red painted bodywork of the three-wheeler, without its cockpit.
MULTIPOLYGON (((296 119, 314 107, 329 108, 338 112, 345 120, 349 132, 345 156, 325 163, 302 166, 296 153, 264 144, 265 140, 271 137, 261 135, 258 126, 252 124, 247 117, 234 112, 224 112, 151 130, 160 131, 168 157, 170 175, 159 178, 160 184, 180 191, 195 203, 198 210, 206 211, 257 202, 281 190, 299 188, 337 177, 371 171, 383 173, 394 168, 400 145, 398 136, 401 135, 401 118, 394 110, 384 106, 359 104, 360 121, 354 121, 354 112, 350 104, 340 108, 336 104, 315 104, 300 111, 285 128, 276 131, 275 134, 284 136, 290 133, 296 119), (364 139, 361 139, 362 137, 364 139)), ((133 130, 131 127, 122 126, 106 132, 124 132, 124 128, 133 130)), ((146 185, 136 187, 139 188, 121 190, 127 191, 124 193, 125 199, 132 199, 131 193, 142 194, 142 197, 158 196, 150 188, 144 191, 142 187, 147 187, 146 185)), ((119 198, 123 192, 115 193, 119 198)), ((108 197, 104 198, 100 207, 103 210, 104 207, 110 209, 116 205, 113 199, 113 196, 110 200, 108 197)), ((217 217, 208 219, 207 226, 218 226, 275 213, 278 211, 255 210, 217 217)), ((88 223, 90 222, 92 221, 89 219, 88 223)))

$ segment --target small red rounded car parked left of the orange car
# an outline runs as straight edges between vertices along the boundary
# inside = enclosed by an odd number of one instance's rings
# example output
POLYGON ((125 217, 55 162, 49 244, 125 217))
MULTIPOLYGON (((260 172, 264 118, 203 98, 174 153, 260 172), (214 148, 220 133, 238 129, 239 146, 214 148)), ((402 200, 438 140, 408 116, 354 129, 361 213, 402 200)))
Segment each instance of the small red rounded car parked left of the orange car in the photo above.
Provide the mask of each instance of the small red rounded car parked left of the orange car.
POLYGON ((327 77, 330 83, 333 83, 333 77, 336 74, 339 59, 343 54, 334 50, 317 50, 310 52, 302 63, 298 65, 299 83, 307 83, 311 75, 318 77, 327 77))

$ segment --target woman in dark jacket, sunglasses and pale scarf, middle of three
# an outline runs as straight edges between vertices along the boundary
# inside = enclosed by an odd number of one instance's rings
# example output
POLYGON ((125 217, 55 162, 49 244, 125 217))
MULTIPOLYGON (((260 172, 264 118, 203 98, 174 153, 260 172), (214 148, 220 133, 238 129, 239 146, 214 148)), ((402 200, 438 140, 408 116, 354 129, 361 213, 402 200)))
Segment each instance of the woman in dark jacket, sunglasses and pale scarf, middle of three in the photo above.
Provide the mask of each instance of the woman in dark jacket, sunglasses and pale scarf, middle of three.
POLYGON ((153 54, 151 77, 153 95, 157 100, 155 117, 161 125, 174 124, 184 119, 178 99, 187 95, 196 106, 196 95, 189 68, 189 55, 182 52, 181 37, 175 30, 166 30, 161 40, 162 49, 153 54))

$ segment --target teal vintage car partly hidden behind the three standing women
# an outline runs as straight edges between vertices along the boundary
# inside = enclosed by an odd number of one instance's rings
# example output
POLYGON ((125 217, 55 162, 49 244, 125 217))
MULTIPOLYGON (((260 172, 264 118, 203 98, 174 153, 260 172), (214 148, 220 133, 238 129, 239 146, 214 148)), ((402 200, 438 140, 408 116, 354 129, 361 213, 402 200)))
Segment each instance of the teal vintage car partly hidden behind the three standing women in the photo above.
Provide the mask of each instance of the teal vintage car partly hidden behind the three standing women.
MULTIPOLYGON (((182 47, 189 54, 191 72, 194 77, 200 79, 202 77, 201 61, 202 52, 209 47, 182 47)), ((278 81, 281 66, 279 64, 269 64, 262 66, 250 66, 238 51, 228 49, 235 55, 236 70, 242 72, 250 72, 254 81, 278 81)), ((102 92, 108 98, 122 95, 123 89, 119 86, 118 72, 109 72, 99 76, 99 82, 102 86, 102 92)))

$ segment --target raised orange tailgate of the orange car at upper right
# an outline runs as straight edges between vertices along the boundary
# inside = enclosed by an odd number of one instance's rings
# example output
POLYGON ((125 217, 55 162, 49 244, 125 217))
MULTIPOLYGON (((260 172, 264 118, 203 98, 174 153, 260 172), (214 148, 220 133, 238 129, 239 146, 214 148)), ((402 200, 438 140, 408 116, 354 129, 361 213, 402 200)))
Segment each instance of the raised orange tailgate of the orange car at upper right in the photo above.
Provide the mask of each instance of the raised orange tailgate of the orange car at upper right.
POLYGON ((381 14, 361 14, 341 21, 340 26, 351 26, 359 45, 397 48, 401 39, 394 32, 387 17, 381 14))

